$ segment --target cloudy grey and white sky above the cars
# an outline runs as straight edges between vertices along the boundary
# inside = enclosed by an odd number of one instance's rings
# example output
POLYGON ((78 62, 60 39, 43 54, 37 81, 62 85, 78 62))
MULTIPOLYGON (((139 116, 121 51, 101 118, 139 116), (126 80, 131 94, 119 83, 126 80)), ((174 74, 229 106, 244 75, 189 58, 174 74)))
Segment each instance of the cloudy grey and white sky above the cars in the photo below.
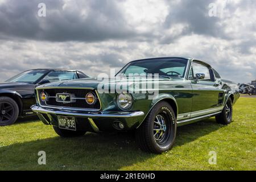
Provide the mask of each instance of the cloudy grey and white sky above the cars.
POLYGON ((97 76, 135 59, 183 56, 249 82, 255 9, 255 0, 0 0, 0 81, 31 68, 97 76))

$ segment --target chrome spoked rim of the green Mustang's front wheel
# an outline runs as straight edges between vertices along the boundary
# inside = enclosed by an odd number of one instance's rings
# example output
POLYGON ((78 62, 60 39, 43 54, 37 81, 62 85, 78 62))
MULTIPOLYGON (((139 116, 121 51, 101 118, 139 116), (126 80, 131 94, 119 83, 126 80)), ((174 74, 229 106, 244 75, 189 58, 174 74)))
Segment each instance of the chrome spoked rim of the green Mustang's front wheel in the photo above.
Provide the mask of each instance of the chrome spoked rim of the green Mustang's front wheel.
POLYGON ((166 121, 163 115, 158 114, 154 120, 154 139, 156 142, 160 142, 166 135, 166 121))

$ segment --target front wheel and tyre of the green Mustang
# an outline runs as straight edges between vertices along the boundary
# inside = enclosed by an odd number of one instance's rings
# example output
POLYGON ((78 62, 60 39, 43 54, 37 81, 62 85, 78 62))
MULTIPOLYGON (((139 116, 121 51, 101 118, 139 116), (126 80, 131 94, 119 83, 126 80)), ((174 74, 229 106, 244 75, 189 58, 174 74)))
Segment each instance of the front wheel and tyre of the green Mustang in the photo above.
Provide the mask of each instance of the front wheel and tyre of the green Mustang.
POLYGON ((170 150, 176 137, 175 113, 168 102, 154 106, 135 133, 141 150, 160 154, 170 150))

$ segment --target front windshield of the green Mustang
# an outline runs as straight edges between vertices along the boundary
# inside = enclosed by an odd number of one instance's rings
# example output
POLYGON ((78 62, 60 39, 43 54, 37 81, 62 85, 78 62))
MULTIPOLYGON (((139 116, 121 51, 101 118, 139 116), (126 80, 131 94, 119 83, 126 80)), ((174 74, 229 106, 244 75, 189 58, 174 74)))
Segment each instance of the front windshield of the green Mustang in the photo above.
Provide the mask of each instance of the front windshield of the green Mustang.
POLYGON ((168 77, 184 77, 188 60, 162 58, 133 61, 126 65, 117 76, 158 74, 168 77))

